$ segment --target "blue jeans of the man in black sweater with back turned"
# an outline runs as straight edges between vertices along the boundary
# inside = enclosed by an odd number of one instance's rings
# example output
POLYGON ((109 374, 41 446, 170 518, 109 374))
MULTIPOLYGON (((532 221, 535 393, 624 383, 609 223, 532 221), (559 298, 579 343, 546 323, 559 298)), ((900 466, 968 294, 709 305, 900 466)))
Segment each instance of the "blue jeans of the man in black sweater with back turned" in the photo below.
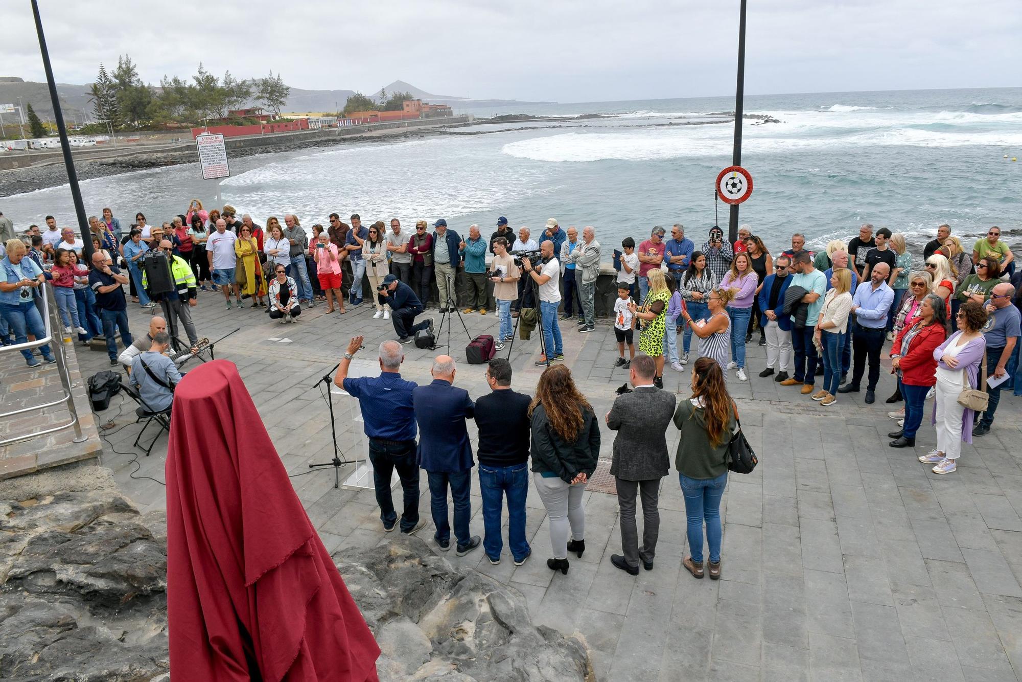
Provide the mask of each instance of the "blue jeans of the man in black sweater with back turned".
MULTIPOLYGON (((510 303, 510 302, 509 302, 510 303)), ((508 498, 508 544, 515 561, 528 554, 525 540, 525 497, 528 495, 528 463, 513 466, 479 464, 479 494, 482 496, 482 524, 485 535, 482 548, 486 556, 499 558, 504 542, 501 538, 501 507, 508 498)))

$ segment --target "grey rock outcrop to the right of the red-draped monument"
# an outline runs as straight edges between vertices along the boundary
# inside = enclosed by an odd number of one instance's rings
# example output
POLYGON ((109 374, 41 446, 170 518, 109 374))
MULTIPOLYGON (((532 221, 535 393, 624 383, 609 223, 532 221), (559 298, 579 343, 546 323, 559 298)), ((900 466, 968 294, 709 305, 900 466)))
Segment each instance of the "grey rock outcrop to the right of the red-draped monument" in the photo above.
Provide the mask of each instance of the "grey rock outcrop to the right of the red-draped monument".
POLYGON ((532 625, 525 598, 416 538, 345 550, 337 566, 376 635, 380 680, 591 681, 575 638, 532 625))

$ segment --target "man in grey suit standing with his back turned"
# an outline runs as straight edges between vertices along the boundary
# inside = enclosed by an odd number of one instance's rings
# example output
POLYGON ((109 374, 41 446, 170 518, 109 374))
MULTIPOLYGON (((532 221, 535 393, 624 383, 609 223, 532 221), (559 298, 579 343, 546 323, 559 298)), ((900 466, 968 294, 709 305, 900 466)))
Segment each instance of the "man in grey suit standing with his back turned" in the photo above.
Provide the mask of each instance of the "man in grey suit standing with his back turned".
POLYGON ((610 562, 633 576, 639 575, 639 559, 646 571, 653 570, 656 538, 660 530, 660 479, 670 470, 667 454, 667 424, 675 414, 675 396, 653 385, 656 363, 638 354, 629 370, 635 390, 618 396, 607 427, 617 431, 610 473, 617 480, 617 504, 621 508, 621 549, 610 562), (642 495, 642 547, 636 530, 636 497, 642 495))

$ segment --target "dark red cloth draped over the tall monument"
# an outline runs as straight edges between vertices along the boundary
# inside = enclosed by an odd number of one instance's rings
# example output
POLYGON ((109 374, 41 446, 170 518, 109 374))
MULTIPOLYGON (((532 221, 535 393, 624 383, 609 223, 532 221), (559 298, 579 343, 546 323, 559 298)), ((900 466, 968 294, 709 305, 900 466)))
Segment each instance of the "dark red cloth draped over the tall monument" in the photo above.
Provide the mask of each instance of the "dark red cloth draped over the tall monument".
POLYGON ((167 453, 175 680, 376 680, 379 647, 234 363, 177 387, 167 453))

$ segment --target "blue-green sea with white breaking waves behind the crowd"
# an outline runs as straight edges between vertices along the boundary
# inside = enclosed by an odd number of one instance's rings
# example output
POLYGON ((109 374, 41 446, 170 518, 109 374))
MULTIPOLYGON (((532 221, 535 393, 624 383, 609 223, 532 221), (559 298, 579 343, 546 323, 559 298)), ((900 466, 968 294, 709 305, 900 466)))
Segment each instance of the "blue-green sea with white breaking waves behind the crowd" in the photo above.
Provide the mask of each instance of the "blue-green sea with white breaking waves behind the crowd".
MULTIPOLYGON (((613 118, 486 124, 466 135, 264 154, 232 163, 225 202, 265 223, 270 215, 326 224, 333 211, 363 222, 399 217, 446 218, 459 232, 489 234, 499 216, 533 234, 547 218, 594 225, 610 246, 645 238, 654 225, 680 222, 701 242, 728 223, 713 182, 731 165, 732 124, 718 121, 732 98, 687 98, 575 104, 456 108, 477 117, 533 113, 613 118)), ((920 244, 940 223, 971 236, 1000 225, 1022 241, 1022 88, 750 96, 743 166, 754 180, 740 220, 772 251, 792 232, 811 245, 857 233, 863 222, 886 226, 920 244), (1007 155, 1008 158, 1004 156, 1007 155)), ((183 213, 189 199, 211 206, 216 184, 196 165, 131 173, 82 184, 86 210, 104 206, 122 218, 142 211, 150 223, 183 213)), ((73 224, 66 187, 0 199, 18 226, 53 214, 73 224)))

